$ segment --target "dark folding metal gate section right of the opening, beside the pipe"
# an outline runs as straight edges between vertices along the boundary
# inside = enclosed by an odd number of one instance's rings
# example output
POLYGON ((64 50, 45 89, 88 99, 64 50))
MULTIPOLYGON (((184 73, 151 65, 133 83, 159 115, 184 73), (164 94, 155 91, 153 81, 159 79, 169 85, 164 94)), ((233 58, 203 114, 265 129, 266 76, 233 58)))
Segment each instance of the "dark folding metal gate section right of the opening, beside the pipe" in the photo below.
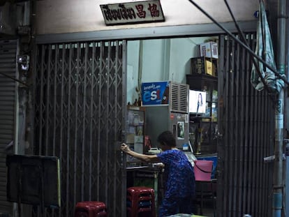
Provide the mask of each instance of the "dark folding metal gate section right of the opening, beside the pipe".
MULTIPOLYGON (((254 50, 255 34, 246 38, 254 50)), ((235 40, 221 36, 220 57, 217 216, 271 216, 273 100, 253 89, 252 57, 235 40)))

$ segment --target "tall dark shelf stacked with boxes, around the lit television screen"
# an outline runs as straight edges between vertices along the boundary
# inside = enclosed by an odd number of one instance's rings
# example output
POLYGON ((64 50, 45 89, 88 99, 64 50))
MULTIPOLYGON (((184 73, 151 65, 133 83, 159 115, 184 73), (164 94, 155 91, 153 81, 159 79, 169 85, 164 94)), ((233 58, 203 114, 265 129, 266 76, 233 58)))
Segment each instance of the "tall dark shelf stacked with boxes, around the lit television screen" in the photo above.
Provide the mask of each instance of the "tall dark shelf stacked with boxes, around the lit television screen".
POLYGON ((202 43, 198 50, 199 57, 190 59, 191 71, 186 75, 186 84, 190 90, 205 91, 206 111, 190 113, 189 135, 195 154, 212 154, 217 147, 218 43, 202 43))

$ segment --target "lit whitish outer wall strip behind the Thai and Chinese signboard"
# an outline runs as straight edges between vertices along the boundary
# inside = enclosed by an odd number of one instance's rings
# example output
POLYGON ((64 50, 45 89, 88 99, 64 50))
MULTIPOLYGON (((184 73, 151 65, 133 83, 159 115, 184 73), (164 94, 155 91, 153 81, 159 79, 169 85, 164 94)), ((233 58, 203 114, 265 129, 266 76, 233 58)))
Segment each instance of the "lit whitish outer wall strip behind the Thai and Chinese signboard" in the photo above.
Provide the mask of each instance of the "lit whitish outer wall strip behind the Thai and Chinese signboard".
MULTIPOLYGON (((168 27, 212 23, 188 0, 161 0, 165 22, 106 27, 101 4, 125 3, 131 0, 45 0, 36 1, 36 33, 72 33, 142 27, 168 27)), ((239 21, 255 20, 258 0, 230 0, 228 3, 239 21)), ((232 21, 223 0, 195 0, 218 22, 232 21)))

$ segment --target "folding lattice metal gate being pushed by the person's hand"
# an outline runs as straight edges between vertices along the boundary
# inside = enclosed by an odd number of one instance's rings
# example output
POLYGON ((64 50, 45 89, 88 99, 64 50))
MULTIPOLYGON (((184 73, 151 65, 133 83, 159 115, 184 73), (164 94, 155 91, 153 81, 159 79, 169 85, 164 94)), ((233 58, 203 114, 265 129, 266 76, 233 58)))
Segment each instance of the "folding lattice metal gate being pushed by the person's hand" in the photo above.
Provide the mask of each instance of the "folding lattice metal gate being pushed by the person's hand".
POLYGON ((36 216, 73 216, 80 201, 102 201, 121 216, 120 151, 126 108, 126 41, 38 45, 34 154, 61 160, 61 208, 36 216), (125 93, 124 93, 125 92, 125 93))

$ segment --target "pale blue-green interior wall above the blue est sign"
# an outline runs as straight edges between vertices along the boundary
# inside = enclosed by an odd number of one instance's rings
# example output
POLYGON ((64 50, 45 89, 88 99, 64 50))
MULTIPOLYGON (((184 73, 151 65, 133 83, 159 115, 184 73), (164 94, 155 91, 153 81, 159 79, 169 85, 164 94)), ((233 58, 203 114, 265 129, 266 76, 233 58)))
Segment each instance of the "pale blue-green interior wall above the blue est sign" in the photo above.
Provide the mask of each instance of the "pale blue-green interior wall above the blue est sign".
MULTIPOLYGON (((127 101, 138 99, 138 78, 141 82, 170 80, 186 84, 191 72, 190 59, 198 57, 198 45, 210 37, 169 38, 128 41, 127 101), (142 52, 140 45, 142 44, 142 52), (142 68, 139 70, 139 63, 142 68)), ((212 38, 216 39, 216 38, 212 38)))

